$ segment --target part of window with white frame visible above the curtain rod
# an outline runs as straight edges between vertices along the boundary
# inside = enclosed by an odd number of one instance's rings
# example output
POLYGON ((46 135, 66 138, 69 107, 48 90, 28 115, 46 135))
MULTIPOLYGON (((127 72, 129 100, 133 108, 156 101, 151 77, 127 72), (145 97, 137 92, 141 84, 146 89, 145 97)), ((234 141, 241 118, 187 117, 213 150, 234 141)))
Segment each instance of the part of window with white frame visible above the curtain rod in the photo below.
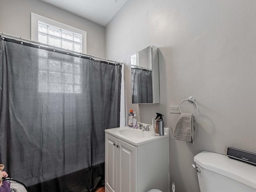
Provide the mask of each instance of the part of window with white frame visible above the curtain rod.
POLYGON ((31 40, 86 54, 86 31, 31 13, 31 40))

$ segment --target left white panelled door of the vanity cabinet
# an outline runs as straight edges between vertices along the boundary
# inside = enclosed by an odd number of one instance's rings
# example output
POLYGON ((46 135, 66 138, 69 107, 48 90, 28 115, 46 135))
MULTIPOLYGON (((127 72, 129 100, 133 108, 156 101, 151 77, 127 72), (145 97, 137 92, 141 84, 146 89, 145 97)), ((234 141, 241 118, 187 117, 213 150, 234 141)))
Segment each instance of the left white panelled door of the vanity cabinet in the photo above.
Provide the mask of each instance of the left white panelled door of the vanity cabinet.
POLYGON ((117 190, 117 151, 118 139, 109 134, 105 134, 105 185, 110 192, 117 190))

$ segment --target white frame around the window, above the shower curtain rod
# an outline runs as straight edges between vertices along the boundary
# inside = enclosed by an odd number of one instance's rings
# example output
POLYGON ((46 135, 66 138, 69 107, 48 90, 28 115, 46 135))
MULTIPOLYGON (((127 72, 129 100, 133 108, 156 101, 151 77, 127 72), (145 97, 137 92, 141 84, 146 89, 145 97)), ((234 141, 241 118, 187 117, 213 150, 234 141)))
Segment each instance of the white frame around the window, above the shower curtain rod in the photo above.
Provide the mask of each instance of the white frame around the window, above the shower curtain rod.
POLYGON ((87 47, 86 47, 86 36, 87 32, 84 30, 80 30, 78 28, 74 28, 72 26, 63 24, 61 22, 46 18, 44 16, 31 13, 31 40, 38 42, 38 21, 44 22, 46 24, 56 26, 58 28, 62 28, 74 33, 78 33, 82 35, 82 53, 86 54, 87 53, 87 47))

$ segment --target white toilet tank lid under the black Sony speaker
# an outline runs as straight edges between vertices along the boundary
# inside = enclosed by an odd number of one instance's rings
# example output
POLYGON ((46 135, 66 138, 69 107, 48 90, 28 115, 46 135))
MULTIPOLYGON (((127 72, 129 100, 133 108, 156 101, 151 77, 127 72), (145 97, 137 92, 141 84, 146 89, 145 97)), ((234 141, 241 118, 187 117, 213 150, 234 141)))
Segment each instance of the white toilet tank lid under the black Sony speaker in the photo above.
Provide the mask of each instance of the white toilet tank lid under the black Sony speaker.
POLYGON ((224 175, 256 189, 256 166, 229 158, 226 155, 203 151, 194 162, 204 169, 224 175))

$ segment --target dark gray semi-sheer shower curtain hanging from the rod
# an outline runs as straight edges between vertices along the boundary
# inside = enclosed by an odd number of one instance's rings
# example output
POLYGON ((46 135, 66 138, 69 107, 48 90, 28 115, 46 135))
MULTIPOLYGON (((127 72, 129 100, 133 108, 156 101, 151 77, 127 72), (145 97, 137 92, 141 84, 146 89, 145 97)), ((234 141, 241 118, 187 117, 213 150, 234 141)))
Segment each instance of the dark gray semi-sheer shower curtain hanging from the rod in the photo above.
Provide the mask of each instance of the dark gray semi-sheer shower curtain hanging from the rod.
POLYGON ((121 66, 0 40, 0 163, 30 192, 104 185, 104 130, 119 126, 121 66))

